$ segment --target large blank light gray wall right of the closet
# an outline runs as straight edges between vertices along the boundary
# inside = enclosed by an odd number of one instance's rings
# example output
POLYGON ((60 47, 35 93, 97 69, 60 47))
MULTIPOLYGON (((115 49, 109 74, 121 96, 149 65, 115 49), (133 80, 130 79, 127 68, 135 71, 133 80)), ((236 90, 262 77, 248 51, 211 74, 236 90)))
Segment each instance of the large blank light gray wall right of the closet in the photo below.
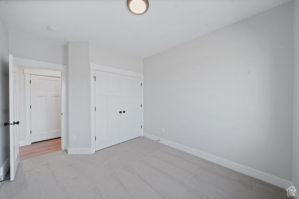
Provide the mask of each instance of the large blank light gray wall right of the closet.
POLYGON ((144 132, 291 181, 292 12, 290 1, 145 58, 144 132))

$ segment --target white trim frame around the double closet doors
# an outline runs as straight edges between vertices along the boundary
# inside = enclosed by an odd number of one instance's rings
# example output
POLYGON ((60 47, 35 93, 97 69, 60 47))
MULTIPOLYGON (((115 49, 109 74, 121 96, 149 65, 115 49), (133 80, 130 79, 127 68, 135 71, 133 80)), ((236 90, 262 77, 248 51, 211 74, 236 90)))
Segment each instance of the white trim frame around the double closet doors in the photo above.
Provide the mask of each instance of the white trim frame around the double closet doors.
POLYGON ((95 140, 93 139, 95 137, 95 81, 94 81, 94 71, 103 71, 103 72, 108 72, 108 73, 115 73, 115 74, 120 74, 120 75, 126 75, 126 76, 131 76, 131 77, 139 77, 141 78, 141 136, 143 136, 143 74, 141 73, 136 73, 136 72, 131 72, 131 71, 126 71, 122 69, 116 69, 116 68, 111 68, 108 66, 102 66, 94 63, 90 63, 90 94, 91 94, 91 103, 90 103, 90 112, 91 112, 91 120, 90 120, 90 125, 91 125, 91 132, 90 132, 90 137, 91 137, 91 153, 95 153, 95 140))

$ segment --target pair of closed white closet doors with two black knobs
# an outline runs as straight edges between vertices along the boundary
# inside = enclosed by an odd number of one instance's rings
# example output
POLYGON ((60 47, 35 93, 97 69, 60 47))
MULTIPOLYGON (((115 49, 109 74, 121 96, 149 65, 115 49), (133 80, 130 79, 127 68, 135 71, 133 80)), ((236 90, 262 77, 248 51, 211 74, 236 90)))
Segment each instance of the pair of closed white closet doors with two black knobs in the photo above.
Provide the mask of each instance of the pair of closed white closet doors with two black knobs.
POLYGON ((95 150, 141 136, 141 78, 95 71, 95 150))

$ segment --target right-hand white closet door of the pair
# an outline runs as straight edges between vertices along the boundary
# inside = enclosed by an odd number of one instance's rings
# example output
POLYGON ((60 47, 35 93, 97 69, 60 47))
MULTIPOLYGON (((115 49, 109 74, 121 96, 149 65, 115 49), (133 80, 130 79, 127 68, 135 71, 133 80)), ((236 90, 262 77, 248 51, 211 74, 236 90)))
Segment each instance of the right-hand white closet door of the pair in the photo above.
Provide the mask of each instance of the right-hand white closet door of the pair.
POLYGON ((141 78, 122 75, 123 141, 141 136, 141 78))

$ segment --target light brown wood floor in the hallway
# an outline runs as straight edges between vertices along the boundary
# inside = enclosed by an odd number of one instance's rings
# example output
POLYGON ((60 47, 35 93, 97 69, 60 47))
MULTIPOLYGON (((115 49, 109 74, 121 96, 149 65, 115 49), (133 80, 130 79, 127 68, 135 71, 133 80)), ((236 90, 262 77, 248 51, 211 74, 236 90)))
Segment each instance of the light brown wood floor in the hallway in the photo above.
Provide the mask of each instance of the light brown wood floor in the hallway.
POLYGON ((20 161, 61 150, 61 138, 19 147, 20 161))

